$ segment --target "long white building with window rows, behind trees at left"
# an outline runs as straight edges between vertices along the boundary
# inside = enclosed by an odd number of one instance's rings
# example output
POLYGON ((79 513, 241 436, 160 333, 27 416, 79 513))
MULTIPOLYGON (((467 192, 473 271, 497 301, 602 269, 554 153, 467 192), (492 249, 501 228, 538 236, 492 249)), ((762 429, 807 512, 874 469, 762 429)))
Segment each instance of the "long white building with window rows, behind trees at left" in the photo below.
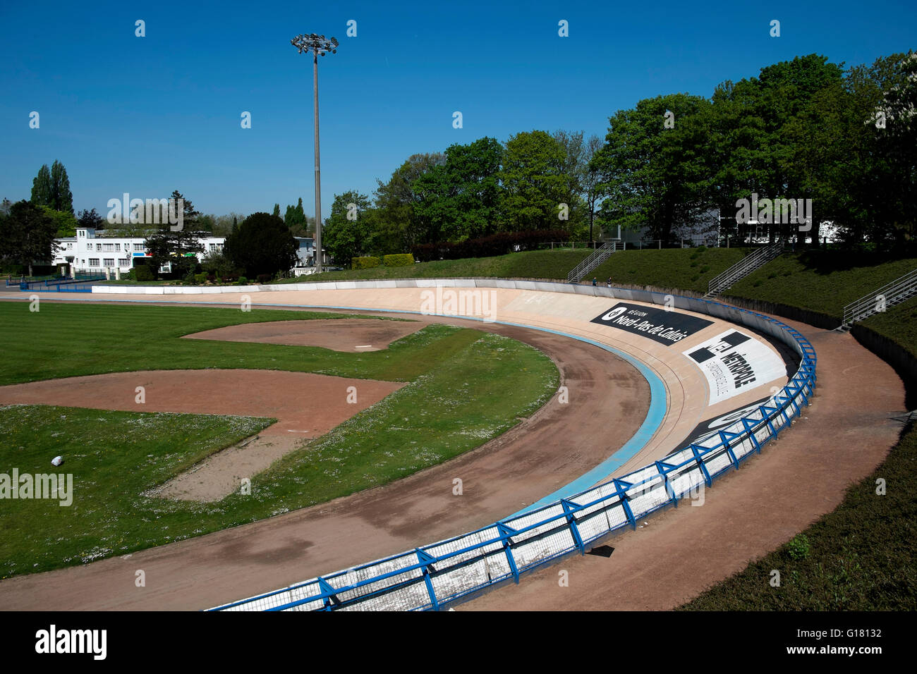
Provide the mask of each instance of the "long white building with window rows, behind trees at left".
MULTIPOLYGON (((68 271, 75 273, 105 273, 120 276, 134 268, 138 260, 149 259, 149 252, 144 246, 145 236, 125 236, 122 232, 98 231, 92 227, 79 227, 75 237, 54 239, 58 250, 54 254, 53 264, 57 268, 68 265, 68 271)), ((225 237, 200 238, 204 252, 195 257, 204 257, 223 249, 225 237)), ((160 271, 168 272, 167 264, 160 271)))

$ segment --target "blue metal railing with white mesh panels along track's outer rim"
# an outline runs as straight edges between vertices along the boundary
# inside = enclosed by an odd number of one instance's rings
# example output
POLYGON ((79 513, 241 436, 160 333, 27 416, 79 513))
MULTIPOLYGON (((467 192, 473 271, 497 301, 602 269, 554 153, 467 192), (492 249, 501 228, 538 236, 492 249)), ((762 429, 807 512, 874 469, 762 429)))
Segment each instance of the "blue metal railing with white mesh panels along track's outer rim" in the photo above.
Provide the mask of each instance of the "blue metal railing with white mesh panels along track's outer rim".
POLYGON ((682 447, 622 478, 607 481, 530 513, 399 555, 227 603, 211 611, 437 610, 472 592, 520 575, 586 546, 679 499, 729 470, 788 427, 809 404, 815 387, 816 355, 797 330, 746 309, 691 298, 710 314, 754 316, 766 332, 800 355, 789 383, 767 403, 726 428, 682 447), (771 329, 768 329, 771 328, 771 329))

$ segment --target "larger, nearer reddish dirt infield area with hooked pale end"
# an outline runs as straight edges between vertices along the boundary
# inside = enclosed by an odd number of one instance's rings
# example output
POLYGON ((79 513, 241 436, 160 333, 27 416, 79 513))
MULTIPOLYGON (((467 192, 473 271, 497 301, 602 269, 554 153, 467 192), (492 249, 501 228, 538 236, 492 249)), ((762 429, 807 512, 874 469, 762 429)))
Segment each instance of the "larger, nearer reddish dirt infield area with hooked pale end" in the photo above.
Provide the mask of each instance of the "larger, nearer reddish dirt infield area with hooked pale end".
POLYGON ((149 494, 215 501, 238 489, 240 478, 266 470, 304 439, 327 433, 404 385, 282 370, 148 370, 0 386, 0 404, 276 418, 244 446, 211 455, 149 494), (348 403, 348 386, 357 387, 356 403, 348 403), (138 387, 144 403, 138 403, 138 387))

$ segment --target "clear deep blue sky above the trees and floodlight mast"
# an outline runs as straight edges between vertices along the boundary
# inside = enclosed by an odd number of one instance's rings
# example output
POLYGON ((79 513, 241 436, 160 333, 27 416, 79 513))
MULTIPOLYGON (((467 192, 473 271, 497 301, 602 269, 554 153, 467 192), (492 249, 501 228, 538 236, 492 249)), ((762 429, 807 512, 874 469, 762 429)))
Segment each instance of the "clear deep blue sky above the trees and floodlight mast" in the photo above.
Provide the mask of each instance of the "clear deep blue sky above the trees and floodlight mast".
POLYGON ((283 210, 302 196, 314 214, 312 62, 290 44, 310 32, 341 43, 318 69, 327 216, 335 193, 371 193, 415 152, 535 128, 603 138, 608 117, 641 98, 709 96, 812 52, 855 65, 917 49, 917 5, 5 3, 0 198, 28 199, 57 159, 74 207, 103 216, 122 193, 173 189, 204 213, 283 210))

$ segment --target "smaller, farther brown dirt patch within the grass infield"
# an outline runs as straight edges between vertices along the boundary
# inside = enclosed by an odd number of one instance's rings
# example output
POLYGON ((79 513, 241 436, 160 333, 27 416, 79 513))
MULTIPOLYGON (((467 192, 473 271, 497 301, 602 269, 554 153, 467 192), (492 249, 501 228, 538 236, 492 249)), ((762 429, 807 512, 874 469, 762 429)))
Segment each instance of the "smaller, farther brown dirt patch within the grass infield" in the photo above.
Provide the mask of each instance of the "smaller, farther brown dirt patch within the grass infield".
POLYGON ((204 330, 186 339, 266 342, 294 347, 324 347, 335 351, 379 351, 396 339, 415 333, 425 323, 378 318, 329 318, 311 321, 243 323, 204 330))

